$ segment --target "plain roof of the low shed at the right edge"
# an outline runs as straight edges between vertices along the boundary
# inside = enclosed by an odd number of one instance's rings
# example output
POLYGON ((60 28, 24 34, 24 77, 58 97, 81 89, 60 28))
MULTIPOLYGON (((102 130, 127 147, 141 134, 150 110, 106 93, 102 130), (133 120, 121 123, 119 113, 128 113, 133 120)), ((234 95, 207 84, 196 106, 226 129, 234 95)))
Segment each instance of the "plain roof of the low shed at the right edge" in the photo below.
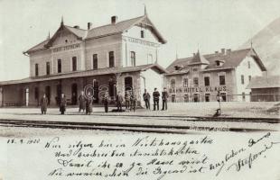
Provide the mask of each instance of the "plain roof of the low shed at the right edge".
POLYGON ((280 76, 255 76, 247 85, 247 89, 280 87, 280 76))

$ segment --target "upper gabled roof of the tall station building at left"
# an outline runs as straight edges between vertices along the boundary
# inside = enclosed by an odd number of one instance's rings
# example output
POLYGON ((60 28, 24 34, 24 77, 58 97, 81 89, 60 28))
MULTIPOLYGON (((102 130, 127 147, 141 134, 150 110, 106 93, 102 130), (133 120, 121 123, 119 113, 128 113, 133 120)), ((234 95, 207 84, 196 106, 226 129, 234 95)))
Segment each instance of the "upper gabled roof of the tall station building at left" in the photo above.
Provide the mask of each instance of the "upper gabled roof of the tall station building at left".
POLYGON ((128 30, 132 26, 140 25, 140 24, 143 24, 148 29, 150 29, 154 33, 155 37, 161 43, 166 43, 166 40, 163 39, 163 36, 160 34, 159 31, 157 31, 157 29, 155 28, 155 26, 151 22, 151 20, 148 18, 148 16, 143 15, 140 17, 135 17, 133 19, 118 22, 115 24, 110 23, 110 24, 96 27, 96 28, 93 28, 90 30, 74 28, 74 27, 70 27, 68 25, 64 25, 63 23, 61 23, 60 28, 53 34, 51 39, 43 40, 42 42, 40 42, 33 48, 26 50, 26 52, 24 52, 24 53, 30 53, 30 52, 36 51, 36 50, 47 49, 48 47, 51 46, 51 43, 53 42, 53 40, 56 39, 56 37, 59 35, 59 32, 62 30, 70 31, 75 36, 77 36, 80 40, 91 40, 91 39, 100 38, 100 37, 113 35, 113 34, 117 34, 117 33, 123 33, 124 31, 128 30))

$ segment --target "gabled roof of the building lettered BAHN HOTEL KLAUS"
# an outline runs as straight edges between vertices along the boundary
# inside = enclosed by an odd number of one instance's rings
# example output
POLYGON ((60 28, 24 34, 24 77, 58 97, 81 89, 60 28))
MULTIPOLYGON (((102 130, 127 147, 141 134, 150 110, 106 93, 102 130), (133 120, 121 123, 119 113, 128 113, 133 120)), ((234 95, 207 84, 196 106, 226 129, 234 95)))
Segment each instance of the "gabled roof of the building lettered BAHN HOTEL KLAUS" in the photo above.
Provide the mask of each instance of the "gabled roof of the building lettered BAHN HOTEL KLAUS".
MULTIPOLYGON (((214 53, 214 54, 207 54, 203 55, 202 57, 205 58, 209 65, 203 69, 203 71, 210 71, 210 70, 219 70, 219 69, 229 69, 238 67, 240 62, 250 56, 254 58, 257 62, 257 65, 260 67, 262 71, 266 71, 265 65, 262 63, 261 59, 257 56, 257 53, 254 49, 238 49, 232 50, 229 53, 214 53), (223 65, 218 67, 216 65, 216 61, 223 61, 223 65)), ((192 62, 193 57, 189 58, 179 58, 173 61, 173 63, 167 67, 167 71, 173 73, 175 71, 174 66, 183 66, 183 69, 189 69, 190 62, 192 62)))

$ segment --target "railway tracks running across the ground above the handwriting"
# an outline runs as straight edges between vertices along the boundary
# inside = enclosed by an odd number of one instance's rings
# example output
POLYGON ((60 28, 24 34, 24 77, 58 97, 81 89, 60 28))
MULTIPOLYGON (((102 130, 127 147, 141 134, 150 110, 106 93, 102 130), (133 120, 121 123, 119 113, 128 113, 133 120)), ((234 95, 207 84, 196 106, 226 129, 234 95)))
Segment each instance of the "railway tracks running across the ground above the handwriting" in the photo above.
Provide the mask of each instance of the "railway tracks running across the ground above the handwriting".
MULTIPOLYGON (((74 114, 70 114, 74 115, 74 114)), ((67 115, 68 116, 68 115, 67 115)), ((113 118, 116 114, 94 114, 103 118, 113 118)), ((118 118, 145 118, 145 119, 164 119, 177 121, 235 121, 235 122, 262 122, 262 123, 280 123, 279 119, 255 119, 255 118, 211 118, 211 117, 193 117, 193 116, 146 116, 146 115, 118 115, 118 118)), ((203 130, 193 130, 191 125, 160 125, 160 124, 135 124, 135 123, 100 123, 86 121, 36 121, 36 120, 5 120, 0 119, 0 126, 3 127, 25 127, 25 128, 50 128, 50 129, 70 129, 70 130, 126 130, 134 132, 156 132, 156 133, 202 133, 203 130)), ((200 129, 200 127, 197 127, 200 129)), ((204 130, 213 131, 215 128, 204 128, 204 130)), ((252 128, 228 128, 227 131, 251 132, 266 129, 252 128)))

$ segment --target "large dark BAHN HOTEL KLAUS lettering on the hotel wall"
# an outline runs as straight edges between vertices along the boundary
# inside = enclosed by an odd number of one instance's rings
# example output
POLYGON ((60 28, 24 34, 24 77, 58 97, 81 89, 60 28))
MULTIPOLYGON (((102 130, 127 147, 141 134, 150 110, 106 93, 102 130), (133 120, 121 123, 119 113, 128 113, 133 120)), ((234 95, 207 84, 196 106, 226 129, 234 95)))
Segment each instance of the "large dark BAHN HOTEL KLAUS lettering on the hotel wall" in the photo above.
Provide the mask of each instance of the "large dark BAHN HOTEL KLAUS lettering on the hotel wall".
POLYGON ((177 88, 169 88, 169 93, 177 94, 177 93, 201 93, 201 92, 217 92, 217 91, 228 91, 226 85, 221 86, 197 86, 197 87, 177 87, 177 88))

